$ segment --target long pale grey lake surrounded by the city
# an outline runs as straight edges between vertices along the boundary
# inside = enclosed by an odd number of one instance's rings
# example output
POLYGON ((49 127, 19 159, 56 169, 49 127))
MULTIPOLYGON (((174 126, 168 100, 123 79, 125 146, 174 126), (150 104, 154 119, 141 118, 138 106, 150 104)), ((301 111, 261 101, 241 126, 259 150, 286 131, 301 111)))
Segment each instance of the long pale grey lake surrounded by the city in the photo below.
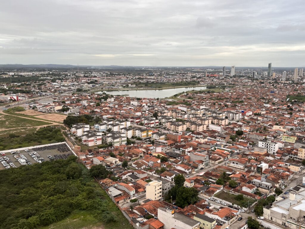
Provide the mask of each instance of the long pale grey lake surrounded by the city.
MULTIPOLYGON (((192 91, 192 90, 205 90, 206 86, 202 87, 183 87, 173 89, 162 89, 162 90, 117 90, 117 91, 106 91, 105 93, 110 95, 128 95, 130 97, 138 98, 166 98, 175 94, 192 91)), ((102 92, 98 92, 102 93, 102 92)))

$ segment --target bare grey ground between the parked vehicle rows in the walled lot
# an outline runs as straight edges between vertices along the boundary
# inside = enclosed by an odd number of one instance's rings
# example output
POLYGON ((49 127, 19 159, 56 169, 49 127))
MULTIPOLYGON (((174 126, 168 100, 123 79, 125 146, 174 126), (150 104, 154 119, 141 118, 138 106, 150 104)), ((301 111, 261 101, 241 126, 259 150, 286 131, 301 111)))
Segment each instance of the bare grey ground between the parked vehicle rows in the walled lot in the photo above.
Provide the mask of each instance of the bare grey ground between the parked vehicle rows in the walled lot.
MULTIPOLYGON (((12 150, 13 151, 13 150, 12 150)), ((44 150, 44 151, 37 151, 35 149, 30 149, 29 152, 26 152, 24 150, 20 151, 20 154, 23 154, 32 164, 37 163, 28 153, 36 151, 42 158, 45 159, 45 161, 49 161, 50 159, 47 157, 48 155, 51 155, 54 158, 54 155, 63 155, 63 154, 73 154, 71 151, 61 153, 57 149, 51 149, 51 150, 44 150)), ((17 167, 19 167, 21 164, 17 161, 16 158, 14 158, 14 155, 18 154, 10 154, 5 153, 7 156, 17 167)), ((1 156, 3 157, 3 156, 1 156)), ((0 163, 0 169, 5 169, 4 166, 0 163)))

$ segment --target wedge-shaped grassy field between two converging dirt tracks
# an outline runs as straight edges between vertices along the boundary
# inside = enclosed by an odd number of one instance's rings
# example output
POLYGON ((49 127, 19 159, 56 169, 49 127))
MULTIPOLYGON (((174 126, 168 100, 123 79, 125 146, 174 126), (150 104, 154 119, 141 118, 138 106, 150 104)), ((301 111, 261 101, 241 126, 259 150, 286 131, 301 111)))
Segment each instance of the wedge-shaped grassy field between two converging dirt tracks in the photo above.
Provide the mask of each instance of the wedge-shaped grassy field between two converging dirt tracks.
POLYGON ((16 127, 31 127, 39 125, 48 125, 49 122, 43 122, 39 120, 31 120, 22 117, 13 117, 11 115, 0 115, 0 127, 1 129, 9 129, 16 127))

